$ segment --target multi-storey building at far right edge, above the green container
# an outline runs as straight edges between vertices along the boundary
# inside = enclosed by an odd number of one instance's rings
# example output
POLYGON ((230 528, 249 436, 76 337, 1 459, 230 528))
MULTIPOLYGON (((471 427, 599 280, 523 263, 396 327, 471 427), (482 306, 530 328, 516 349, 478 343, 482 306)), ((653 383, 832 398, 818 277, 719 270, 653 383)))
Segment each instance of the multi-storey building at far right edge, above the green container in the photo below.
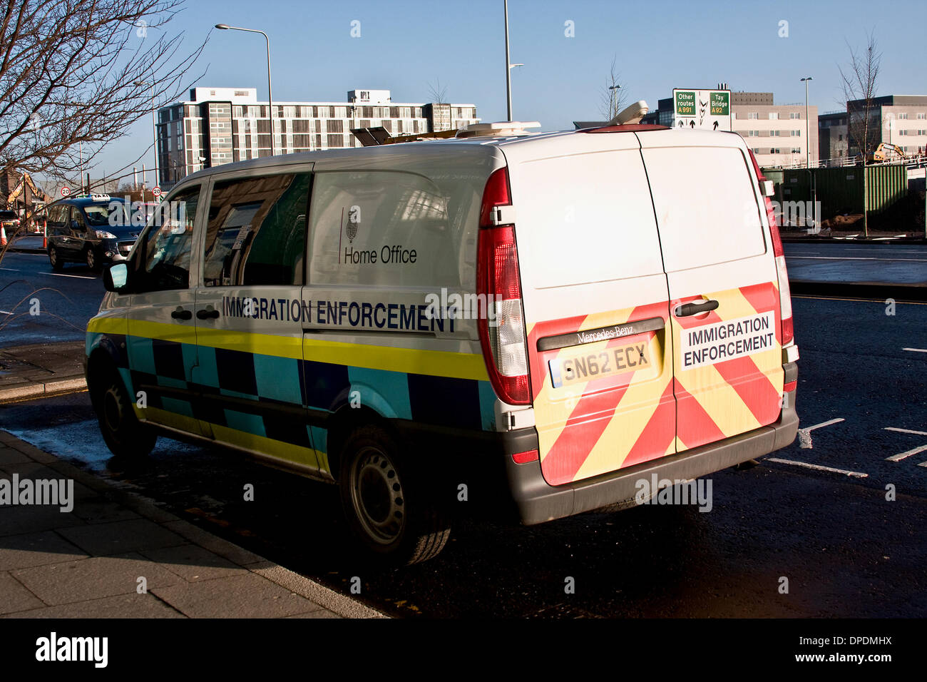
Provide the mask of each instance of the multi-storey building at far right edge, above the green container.
MULTIPOLYGON (((863 137, 864 99, 846 103, 850 156, 859 156, 863 137)), ((880 142, 897 145, 907 156, 927 148, 927 95, 888 95, 870 100, 869 150, 880 142)))

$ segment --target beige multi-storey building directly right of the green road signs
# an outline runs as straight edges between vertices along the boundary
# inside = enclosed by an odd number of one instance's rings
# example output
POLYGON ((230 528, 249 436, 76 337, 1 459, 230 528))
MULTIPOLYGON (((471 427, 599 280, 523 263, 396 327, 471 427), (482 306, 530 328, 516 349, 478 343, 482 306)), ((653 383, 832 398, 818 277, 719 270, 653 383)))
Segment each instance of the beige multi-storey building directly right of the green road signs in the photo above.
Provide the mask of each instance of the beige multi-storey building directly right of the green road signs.
POLYGON ((762 168, 818 162, 818 108, 775 104, 772 93, 730 93, 730 127, 743 136, 762 168), (810 135, 810 138, 809 138, 810 135))

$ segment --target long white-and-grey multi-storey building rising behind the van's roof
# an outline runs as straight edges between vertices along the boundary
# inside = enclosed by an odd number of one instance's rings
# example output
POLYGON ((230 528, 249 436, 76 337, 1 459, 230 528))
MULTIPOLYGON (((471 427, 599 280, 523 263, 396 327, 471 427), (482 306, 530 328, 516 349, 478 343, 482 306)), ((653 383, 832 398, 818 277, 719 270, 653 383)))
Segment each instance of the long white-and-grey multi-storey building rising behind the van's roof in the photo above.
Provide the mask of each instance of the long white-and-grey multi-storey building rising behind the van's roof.
POLYGON ((388 90, 351 90, 346 102, 258 101, 257 88, 196 87, 190 99, 158 111, 159 183, 273 153, 360 147, 351 129, 384 127, 390 135, 461 128, 478 122, 473 104, 398 103, 388 90))

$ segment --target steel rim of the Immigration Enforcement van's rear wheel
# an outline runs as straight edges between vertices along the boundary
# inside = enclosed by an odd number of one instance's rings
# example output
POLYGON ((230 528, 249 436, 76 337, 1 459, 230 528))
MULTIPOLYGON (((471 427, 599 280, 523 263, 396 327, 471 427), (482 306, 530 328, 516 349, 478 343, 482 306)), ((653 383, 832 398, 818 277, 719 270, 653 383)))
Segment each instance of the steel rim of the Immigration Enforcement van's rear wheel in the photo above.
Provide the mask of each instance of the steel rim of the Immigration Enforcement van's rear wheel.
POLYGON ((396 541, 405 525, 405 497, 395 465, 376 447, 364 447, 351 467, 351 503, 368 537, 396 541))

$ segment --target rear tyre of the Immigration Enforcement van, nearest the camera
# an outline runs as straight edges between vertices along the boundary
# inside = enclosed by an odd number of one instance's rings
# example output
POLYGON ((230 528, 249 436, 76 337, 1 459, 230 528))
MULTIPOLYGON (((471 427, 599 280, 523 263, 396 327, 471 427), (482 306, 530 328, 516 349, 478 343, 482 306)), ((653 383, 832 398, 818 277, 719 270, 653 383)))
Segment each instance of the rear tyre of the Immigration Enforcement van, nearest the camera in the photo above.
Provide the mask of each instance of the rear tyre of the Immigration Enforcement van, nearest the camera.
POLYGON ((352 431, 341 451, 338 487, 345 517, 368 558, 389 565, 438 556, 451 526, 383 429, 352 431))

